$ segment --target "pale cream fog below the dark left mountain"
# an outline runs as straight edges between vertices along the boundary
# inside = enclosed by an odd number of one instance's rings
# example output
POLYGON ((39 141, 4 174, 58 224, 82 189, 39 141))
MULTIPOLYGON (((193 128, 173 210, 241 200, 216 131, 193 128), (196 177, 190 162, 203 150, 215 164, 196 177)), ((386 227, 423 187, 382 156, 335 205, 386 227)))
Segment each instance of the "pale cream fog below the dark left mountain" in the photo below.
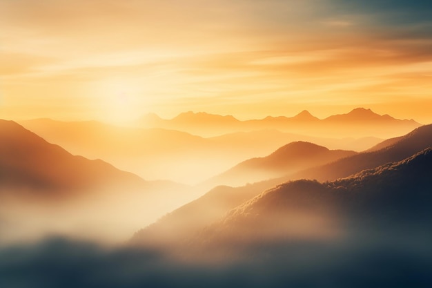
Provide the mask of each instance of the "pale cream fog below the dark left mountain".
POLYGON ((191 187, 164 182, 150 182, 144 189, 101 186, 68 192, 66 197, 53 198, 36 190, 2 191, 0 244, 52 234, 117 244, 196 197, 191 187))

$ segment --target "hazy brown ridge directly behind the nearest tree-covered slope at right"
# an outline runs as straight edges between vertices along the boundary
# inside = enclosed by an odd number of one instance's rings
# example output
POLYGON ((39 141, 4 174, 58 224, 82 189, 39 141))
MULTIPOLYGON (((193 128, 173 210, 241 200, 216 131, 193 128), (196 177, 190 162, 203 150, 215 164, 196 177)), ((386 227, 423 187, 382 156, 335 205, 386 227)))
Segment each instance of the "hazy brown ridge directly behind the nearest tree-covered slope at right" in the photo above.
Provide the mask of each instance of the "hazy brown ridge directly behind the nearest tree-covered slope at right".
POLYGON ((246 200, 277 184, 302 178, 331 181, 347 177, 364 169, 373 169, 389 162, 401 161, 429 146, 432 146, 432 125, 417 128, 405 135, 401 141, 380 151, 358 153, 331 164, 246 186, 236 188, 218 186, 201 198, 164 216, 155 224, 150 225, 150 227, 142 229, 135 235, 133 241, 151 244, 155 244, 158 241, 170 242, 173 239, 177 241, 188 237, 190 233, 203 229, 206 225, 221 218, 230 209, 237 207, 246 200), (206 213, 203 213, 204 211, 206 213), (196 215, 199 215, 199 220, 195 222, 196 215))

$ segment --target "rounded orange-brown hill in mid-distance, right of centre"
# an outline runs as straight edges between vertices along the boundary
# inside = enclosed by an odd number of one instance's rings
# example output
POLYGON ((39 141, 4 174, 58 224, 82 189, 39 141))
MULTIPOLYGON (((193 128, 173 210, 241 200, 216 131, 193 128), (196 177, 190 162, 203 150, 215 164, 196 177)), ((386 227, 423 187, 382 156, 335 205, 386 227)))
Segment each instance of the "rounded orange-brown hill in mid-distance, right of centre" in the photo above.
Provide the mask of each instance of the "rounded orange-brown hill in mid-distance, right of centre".
POLYGON ((291 142, 266 157, 257 157, 239 163, 206 183, 213 183, 213 186, 215 184, 242 186, 248 182, 282 177, 354 154, 353 151, 328 150, 324 146, 310 142, 291 142))

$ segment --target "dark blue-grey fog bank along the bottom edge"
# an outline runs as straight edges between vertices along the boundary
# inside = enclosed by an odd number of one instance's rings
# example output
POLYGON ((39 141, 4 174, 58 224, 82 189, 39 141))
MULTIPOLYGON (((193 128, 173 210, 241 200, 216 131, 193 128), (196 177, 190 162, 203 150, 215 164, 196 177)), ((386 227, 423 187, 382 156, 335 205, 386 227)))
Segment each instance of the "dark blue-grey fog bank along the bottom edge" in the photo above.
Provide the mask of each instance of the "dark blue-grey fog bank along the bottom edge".
MULTIPOLYGON (((360 232, 360 231, 359 231, 360 232)), ((231 247, 200 257, 48 238, 0 249, 1 287, 430 287, 432 252, 420 231, 353 233, 333 241, 231 247), (409 232, 407 233, 404 232, 409 232), (362 235, 360 237, 360 235, 362 235)))

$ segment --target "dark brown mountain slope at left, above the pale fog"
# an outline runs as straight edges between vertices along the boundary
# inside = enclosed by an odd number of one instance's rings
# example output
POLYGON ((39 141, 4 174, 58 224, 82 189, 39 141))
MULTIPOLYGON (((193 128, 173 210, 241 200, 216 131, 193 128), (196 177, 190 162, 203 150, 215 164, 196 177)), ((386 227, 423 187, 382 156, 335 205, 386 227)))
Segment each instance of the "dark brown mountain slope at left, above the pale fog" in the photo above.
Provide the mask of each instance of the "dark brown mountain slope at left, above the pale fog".
POLYGON ((0 182, 3 188, 59 193, 112 184, 146 185, 137 175, 120 171, 102 160, 71 155, 12 121, 0 120, 0 139, 0 182))

